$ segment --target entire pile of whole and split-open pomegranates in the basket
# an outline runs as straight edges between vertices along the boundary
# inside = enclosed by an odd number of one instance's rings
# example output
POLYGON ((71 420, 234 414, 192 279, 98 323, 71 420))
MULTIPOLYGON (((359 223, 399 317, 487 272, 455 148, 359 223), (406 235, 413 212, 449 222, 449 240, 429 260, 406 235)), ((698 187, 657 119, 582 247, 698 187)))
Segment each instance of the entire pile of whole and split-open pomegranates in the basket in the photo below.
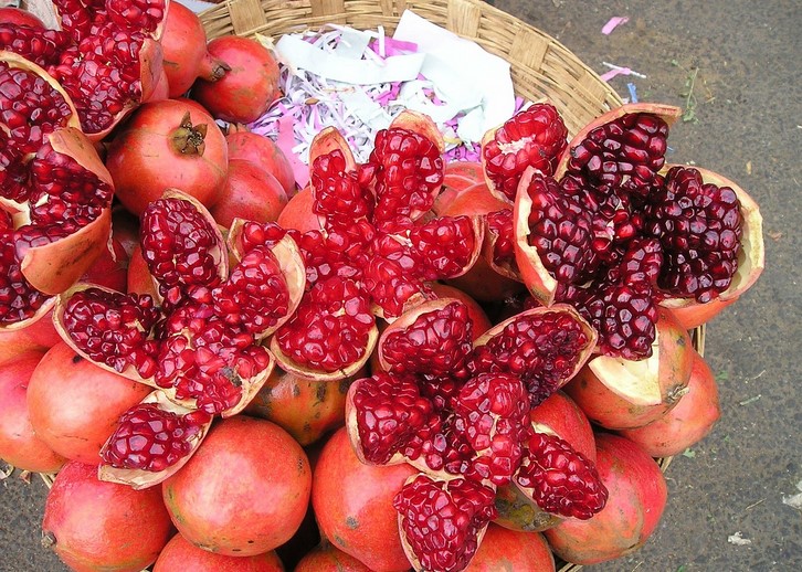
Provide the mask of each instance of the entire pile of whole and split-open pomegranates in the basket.
POLYGON ((78 571, 555 570, 627 554, 705 437, 689 330, 757 204, 665 162, 679 109, 525 107, 445 162, 398 115, 297 189, 251 39, 169 0, 0 9, 0 458, 78 571), (224 127, 221 127, 224 126, 224 127))

